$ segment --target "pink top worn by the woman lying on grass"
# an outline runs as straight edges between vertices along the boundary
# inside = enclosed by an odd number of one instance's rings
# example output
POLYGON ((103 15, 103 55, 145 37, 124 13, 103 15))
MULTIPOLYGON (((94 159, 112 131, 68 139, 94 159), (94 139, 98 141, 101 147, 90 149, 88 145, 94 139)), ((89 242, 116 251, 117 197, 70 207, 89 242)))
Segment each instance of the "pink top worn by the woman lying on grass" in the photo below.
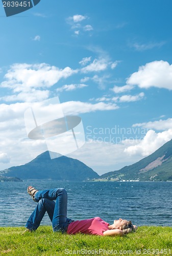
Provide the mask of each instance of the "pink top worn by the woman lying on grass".
POLYGON ((109 223, 103 221, 100 217, 92 219, 73 221, 68 225, 67 233, 76 234, 95 234, 97 236, 103 236, 103 232, 108 230, 109 223))

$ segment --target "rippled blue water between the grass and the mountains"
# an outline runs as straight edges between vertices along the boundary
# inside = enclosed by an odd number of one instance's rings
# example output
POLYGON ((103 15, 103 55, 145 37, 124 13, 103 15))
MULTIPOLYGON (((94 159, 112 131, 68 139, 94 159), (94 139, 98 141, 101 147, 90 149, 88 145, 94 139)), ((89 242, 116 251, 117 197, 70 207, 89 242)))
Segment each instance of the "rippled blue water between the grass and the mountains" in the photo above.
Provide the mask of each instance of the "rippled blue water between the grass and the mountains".
MULTIPOLYGON (((135 225, 172 226, 172 182, 0 182, 0 226, 24 226, 36 203, 27 193, 64 187, 68 193, 68 218, 101 217, 113 223, 123 218, 135 225)), ((41 225, 51 225, 46 215, 41 225)))

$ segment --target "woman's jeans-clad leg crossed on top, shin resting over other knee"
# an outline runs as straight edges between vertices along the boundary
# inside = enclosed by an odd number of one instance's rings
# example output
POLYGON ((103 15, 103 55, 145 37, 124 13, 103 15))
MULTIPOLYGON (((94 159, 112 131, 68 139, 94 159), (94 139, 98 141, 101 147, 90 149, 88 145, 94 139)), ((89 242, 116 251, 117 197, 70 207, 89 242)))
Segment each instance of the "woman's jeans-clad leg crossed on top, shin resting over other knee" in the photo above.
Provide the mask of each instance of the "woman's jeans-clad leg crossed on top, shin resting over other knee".
POLYGON ((52 220, 53 230, 65 232, 72 220, 67 218, 67 192, 64 188, 40 190, 35 194, 35 201, 41 198, 56 200, 52 220))

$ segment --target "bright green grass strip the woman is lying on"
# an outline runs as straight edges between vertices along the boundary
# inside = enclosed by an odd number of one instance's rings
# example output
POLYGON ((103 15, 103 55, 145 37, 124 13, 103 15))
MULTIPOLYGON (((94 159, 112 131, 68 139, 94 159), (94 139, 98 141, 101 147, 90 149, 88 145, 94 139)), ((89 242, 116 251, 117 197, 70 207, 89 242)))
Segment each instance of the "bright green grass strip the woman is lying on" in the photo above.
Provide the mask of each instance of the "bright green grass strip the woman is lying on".
POLYGON ((125 237, 54 233, 50 226, 23 230, 0 227, 0 255, 172 255, 172 227, 139 227, 125 237))

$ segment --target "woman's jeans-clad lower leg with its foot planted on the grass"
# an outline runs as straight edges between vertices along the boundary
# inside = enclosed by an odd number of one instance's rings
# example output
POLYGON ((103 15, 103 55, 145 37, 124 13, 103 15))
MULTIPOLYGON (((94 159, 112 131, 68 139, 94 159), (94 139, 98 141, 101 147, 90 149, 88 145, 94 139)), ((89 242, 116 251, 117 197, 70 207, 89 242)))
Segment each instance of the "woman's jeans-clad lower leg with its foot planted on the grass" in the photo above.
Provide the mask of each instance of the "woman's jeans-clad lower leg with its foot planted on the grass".
POLYGON ((55 202, 52 200, 48 200, 46 198, 42 198, 39 200, 35 210, 32 212, 31 216, 29 217, 26 227, 30 230, 36 230, 40 222, 45 215, 45 212, 47 211, 48 216, 51 221, 53 221, 53 215, 54 215, 54 209, 55 209, 55 202))

